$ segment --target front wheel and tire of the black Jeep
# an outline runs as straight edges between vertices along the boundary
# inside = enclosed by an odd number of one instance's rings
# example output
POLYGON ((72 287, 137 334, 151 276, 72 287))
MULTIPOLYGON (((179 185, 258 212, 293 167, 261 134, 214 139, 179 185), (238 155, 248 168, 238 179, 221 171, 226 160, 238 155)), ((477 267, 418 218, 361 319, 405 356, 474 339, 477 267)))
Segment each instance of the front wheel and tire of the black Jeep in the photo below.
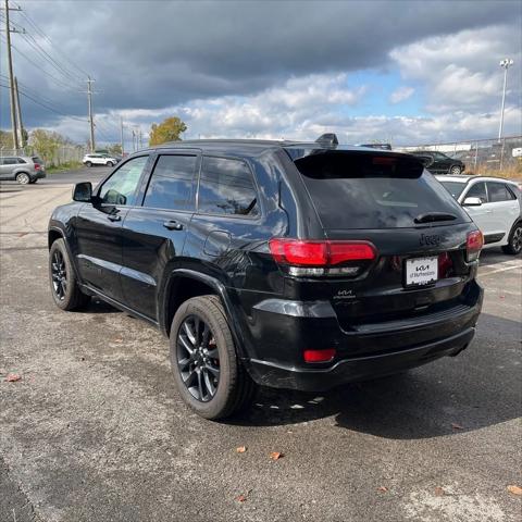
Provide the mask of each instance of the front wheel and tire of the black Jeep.
POLYGON ((90 301, 78 287, 63 239, 57 239, 49 250, 49 285, 54 303, 62 310, 77 310, 90 301))

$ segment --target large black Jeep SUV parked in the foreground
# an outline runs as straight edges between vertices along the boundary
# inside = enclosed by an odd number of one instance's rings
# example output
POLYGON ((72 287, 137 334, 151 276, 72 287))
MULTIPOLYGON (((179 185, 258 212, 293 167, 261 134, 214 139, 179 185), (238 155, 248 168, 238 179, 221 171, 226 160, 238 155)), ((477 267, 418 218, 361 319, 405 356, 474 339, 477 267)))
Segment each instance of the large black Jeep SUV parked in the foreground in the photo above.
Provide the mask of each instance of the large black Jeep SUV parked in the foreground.
POLYGON ((174 378, 219 419, 254 384, 324 390, 471 341, 482 235, 413 156, 200 140, 125 159, 49 225, 50 286, 170 338, 174 378))

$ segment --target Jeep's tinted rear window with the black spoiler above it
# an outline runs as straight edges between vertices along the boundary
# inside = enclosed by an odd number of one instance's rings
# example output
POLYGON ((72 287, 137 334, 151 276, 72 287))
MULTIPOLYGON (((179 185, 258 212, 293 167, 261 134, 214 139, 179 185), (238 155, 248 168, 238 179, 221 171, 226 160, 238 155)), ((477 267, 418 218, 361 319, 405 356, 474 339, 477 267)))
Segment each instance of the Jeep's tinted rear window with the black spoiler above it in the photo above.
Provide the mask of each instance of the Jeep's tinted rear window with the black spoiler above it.
POLYGON ((295 164, 325 228, 406 228, 432 212, 457 216, 440 224, 470 221, 414 158, 321 151, 295 164))

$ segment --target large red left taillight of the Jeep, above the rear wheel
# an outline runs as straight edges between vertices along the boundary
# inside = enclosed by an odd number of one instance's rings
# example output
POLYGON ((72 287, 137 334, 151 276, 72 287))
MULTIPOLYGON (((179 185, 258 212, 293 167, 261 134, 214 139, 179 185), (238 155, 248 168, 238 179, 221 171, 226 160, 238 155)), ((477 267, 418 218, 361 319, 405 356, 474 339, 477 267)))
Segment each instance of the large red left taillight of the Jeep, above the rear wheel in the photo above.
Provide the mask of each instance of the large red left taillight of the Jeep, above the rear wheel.
POLYGON ((290 275, 357 275, 361 266, 377 257, 369 241, 308 241, 273 238, 270 251, 290 275))

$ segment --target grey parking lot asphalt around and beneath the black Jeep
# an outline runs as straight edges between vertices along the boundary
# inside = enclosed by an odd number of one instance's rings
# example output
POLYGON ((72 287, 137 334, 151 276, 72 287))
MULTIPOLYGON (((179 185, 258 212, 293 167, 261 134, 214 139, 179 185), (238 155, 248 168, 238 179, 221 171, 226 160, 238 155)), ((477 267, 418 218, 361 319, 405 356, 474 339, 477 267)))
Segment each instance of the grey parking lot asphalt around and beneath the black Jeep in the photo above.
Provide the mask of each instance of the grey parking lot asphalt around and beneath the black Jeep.
POLYGON ((153 327, 52 302, 49 215, 105 172, 0 186, 1 522, 521 520, 520 258, 483 252, 459 357, 323 395, 262 389, 213 423, 181 401, 153 327))

